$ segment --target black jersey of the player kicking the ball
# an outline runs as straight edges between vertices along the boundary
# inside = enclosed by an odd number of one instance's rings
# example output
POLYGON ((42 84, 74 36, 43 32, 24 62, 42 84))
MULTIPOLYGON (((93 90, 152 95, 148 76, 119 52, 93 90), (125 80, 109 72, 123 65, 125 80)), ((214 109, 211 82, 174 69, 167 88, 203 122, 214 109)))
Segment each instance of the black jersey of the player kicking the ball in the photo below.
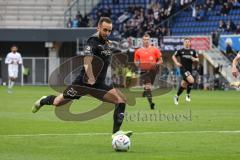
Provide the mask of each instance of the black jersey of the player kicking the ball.
MULTIPOLYGON (((92 70, 96 83, 104 83, 112 55, 109 41, 99 38, 98 33, 95 33, 87 40, 83 56, 87 55, 93 56, 92 70)), ((87 79, 88 77, 83 67, 81 74, 77 77, 77 81, 87 82, 87 79)))

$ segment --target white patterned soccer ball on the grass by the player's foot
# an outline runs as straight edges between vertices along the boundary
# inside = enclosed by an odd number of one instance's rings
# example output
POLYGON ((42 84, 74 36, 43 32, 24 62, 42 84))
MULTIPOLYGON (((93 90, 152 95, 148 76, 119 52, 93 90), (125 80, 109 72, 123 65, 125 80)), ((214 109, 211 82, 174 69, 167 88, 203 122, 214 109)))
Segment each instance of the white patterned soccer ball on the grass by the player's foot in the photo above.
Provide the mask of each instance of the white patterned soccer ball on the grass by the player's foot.
POLYGON ((129 150, 130 144, 131 142, 129 137, 123 134, 116 135, 112 140, 112 147, 115 151, 118 152, 127 152, 129 150))

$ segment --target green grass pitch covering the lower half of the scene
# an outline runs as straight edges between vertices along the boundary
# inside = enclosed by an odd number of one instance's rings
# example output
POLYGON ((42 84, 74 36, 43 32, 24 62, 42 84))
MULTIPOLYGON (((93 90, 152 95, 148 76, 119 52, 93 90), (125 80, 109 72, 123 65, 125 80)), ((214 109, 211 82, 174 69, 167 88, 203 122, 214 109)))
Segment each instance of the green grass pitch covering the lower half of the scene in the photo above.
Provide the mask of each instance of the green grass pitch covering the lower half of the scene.
MULTIPOLYGON (((58 119, 53 107, 31 113, 35 100, 54 94, 48 87, 0 87, 1 160, 226 160, 240 159, 240 92, 192 91, 192 102, 173 104, 175 91, 127 106, 123 130, 133 130, 128 152, 111 147, 112 112, 85 122, 58 119)), ((100 104, 90 97, 75 101, 74 113, 100 104)))

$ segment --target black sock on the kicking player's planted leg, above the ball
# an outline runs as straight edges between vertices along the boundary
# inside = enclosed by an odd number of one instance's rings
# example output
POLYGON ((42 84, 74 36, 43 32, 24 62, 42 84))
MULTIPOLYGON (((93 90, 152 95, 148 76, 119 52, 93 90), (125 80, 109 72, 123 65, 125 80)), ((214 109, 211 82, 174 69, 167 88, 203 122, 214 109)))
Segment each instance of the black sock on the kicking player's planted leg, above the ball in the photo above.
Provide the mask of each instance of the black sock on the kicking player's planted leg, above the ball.
POLYGON ((124 119, 125 106, 125 103, 119 103, 115 106, 113 113, 113 133, 116 133, 120 130, 124 119))

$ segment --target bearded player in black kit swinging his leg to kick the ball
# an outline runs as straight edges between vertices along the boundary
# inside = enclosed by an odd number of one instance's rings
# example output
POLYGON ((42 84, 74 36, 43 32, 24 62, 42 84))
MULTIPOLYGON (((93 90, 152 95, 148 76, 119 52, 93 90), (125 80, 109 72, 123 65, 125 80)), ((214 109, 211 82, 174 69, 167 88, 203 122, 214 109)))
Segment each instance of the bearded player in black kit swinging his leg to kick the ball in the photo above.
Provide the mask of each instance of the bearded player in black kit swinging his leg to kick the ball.
POLYGON ((125 134, 131 136, 132 131, 120 131, 124 119, 124 111, 126 106, 126 98, 124 95, 113 86, 108 86, 104 83, 107 68, 111 60, 111 41, 108 36, 112 31, 112 20, 108 17, 101 17, 98 22, 97 33, 87 40, 87 46, 84 49, 84 67, 67 89, 60 95, 43 96, 35 102, 32 112, 36 113, 44 105, 61 106, 73 99, 79 99, 81 96, 89 94, 101 101, 115 104, 113 115, 113 136, 117 134, 125 134), (96 71, 99 65, 96 65, 99 60, 103 63, 102 70, 96 76, 96 71), (87 87, 88 89, 79 89, 79 86, 87 87), (104 92, 103 92, 104 91, 104 92))

